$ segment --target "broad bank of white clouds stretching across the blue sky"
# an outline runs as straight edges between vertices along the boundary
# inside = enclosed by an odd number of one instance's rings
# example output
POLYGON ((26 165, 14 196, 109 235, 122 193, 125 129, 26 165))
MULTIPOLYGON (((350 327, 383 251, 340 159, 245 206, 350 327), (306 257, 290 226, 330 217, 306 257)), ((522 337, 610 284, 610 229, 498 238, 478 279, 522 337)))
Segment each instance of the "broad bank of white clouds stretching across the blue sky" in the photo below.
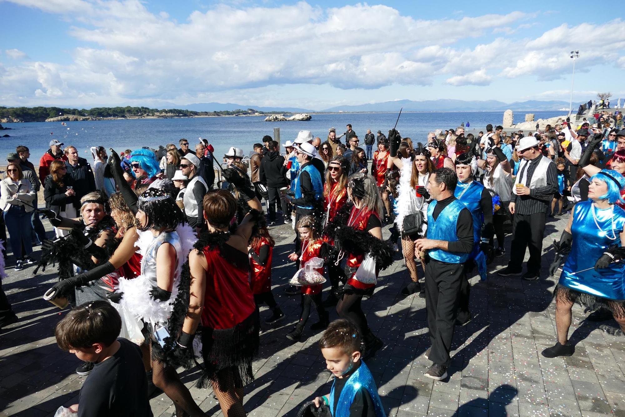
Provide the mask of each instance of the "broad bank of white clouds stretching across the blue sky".
POLYGON ((9 1, 68 19, 69 34, 82 46, 69 64, 6 66, 0 78, 4 103, 36 95, 189 103, 268 85, 374 89, 429 86, 437 76, 452 86, 489 85, 496 76, 549 80, 568 73, 571 62, 563 54, 573 47, 571 39, 582 54, 576 71, 597 62, 625 65, 619 60, 625 49, 617 36, 620 19, 531 36, 533 15, 518 11, 424 20, 366 3, 328 9, 304 1, 278 7, 229 3, 194 11, 178 23, 138 0, 9 1), (506 38, 508 28, 526 38, 506 38), (580 31, 602 38, 574 36, 580 31), (494 32, 502 37, 480 38, 494 32), (472 38, 481 43, 457 45, 472 38), (599 44, 611 47, 606 52, 599 44))

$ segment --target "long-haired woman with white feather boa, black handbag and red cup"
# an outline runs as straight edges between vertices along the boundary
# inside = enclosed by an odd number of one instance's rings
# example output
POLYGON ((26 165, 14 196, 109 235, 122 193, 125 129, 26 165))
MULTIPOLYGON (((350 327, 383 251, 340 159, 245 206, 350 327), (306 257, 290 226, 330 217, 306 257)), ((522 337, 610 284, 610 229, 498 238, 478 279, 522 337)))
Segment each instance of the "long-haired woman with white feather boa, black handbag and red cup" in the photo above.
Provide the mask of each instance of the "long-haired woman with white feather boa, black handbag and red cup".
POLYGON ((404 162, 399 177, 395 225, 401 232, 401 247, 411 283, 401 293, 409 296, 419 292, 419 296, 424 297, 415 262, 414 241, 426 235, 427 204, 431 200, 426 185, 429 176, 434 172, 434 165, 431 153, 421 143, 414 148, 411 158, 404 162))

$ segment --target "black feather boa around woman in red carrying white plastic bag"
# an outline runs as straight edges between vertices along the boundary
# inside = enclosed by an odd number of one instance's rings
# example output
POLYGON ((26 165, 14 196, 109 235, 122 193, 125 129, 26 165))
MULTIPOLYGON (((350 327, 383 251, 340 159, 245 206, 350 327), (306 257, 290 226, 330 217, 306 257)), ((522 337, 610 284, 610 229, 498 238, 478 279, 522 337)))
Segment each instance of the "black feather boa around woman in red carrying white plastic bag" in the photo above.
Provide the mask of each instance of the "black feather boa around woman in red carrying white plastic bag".
POLYGON ((366 230, 355 230, 347 226, 353 203, 347 202, 337 212, 324 229, 324 235, 334 239, 334 250, 342 250, 347 254, 371 254, 376 260, 376 267, 384 270, 391 266, 393 250, 388 242, 372 236, 366 230))

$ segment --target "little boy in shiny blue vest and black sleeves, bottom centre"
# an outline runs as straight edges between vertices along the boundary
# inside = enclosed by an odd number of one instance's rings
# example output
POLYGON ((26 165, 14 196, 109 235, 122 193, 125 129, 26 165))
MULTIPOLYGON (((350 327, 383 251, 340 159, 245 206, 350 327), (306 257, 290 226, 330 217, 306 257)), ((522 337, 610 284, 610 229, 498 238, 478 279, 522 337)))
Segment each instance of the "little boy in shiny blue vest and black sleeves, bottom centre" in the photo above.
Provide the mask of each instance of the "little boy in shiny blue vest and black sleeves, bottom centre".
POLYGON ((359 329, 350 321, 335 320, 321 336, 319 348, 334 382, 329 394, 314 399, 314 406, 327 406, 332 417, 385 417, 376 382, 362 361, 359 329))

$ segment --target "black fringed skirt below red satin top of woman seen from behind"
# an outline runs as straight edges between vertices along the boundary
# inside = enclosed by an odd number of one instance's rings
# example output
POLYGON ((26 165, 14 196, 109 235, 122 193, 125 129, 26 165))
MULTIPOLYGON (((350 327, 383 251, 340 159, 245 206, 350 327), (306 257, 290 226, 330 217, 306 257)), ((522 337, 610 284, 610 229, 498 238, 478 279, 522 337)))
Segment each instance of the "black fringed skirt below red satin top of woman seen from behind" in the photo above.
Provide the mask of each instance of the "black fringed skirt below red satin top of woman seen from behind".
MULTIPOLYGON (((258 354, 260 344, 258 313, 252 312, 244 321, 231 329, 202 328, 203 374, 197 381, 198 388, 207 388, 211 383, 227 389, 220 371, 232 369, 234 387, 242 388, 254 380, 252 359, 258 354)), ((230 375, 227 376, 229 379, 230 375)))

